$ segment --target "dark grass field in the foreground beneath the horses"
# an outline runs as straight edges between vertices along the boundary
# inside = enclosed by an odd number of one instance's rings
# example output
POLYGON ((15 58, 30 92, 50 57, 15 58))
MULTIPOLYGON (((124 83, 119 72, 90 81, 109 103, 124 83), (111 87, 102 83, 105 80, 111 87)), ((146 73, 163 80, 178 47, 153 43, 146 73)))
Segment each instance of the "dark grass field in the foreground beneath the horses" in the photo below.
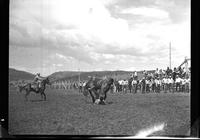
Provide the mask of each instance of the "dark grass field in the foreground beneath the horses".
POLYGON ((189 135, 190 94, 109 94, 106 105, 93 105, 77 91, 47 89, 47 100, 32 93, 9 92, 9 134, 135 135, 165 123, 157 136, 189 135))

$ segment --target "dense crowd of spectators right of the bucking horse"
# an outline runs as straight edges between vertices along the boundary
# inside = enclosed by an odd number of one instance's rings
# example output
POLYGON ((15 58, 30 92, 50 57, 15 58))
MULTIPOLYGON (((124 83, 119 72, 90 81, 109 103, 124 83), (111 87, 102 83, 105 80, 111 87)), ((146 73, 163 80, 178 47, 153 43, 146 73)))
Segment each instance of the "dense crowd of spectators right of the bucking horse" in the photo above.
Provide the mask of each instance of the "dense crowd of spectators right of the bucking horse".
POLYGON ((124 92, 128 90, 137 93, 160 93, 160 92, 189 92, 190 91, 190 71, 191 68, 167 67, 166 70, 156 68, 155 71, 148 72, 144 70, 142 77, 138 78, 137 72, 130 74, 130 79, 115 81, 113 92, 124 92))

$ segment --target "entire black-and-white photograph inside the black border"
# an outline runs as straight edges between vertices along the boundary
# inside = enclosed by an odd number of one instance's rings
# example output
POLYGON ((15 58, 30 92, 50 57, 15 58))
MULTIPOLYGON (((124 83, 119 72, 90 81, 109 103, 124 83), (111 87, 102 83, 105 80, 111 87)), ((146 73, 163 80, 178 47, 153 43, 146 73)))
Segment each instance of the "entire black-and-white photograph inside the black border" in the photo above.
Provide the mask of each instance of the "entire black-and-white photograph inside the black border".
POLYGON ((9 135, 190 137, 191 0, 10 0, 9 135))

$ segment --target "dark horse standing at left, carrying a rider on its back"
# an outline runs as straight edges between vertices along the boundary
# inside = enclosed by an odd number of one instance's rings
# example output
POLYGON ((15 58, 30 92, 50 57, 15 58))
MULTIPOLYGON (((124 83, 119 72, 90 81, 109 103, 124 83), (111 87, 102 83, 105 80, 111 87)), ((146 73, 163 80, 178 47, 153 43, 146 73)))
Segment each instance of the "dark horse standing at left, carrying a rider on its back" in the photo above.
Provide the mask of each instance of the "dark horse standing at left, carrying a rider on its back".
POLYGON ((46 100, 46 94, 44 92, 46 89, 46 84, 49 84, 49 85, 51 84, 48 77, 41 81, 40 87, 38 89, 33 83, 27 83, 24 86, 18 86, 18 87, 19 87, 19 92, 22 92, 22 90, 26 91, 26 94, 25 94, 26 101, 28 100, 27 96, 30 94, 30 92, 40 93, 41 98, 42 99, 44 98, 44 100, 46 100))

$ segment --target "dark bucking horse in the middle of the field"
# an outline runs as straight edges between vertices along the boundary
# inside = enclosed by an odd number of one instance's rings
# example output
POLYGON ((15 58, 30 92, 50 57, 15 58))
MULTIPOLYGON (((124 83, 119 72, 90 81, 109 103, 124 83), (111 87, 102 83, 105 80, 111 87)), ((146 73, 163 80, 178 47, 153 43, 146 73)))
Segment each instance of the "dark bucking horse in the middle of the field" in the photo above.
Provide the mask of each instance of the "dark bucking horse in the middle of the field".
POLYGON ((107 92, 110 90, 113 82, 112 78, 90 78, 84 86, 83 95, 87 96, 89 93, 93 103, 105 104, 107 92))

